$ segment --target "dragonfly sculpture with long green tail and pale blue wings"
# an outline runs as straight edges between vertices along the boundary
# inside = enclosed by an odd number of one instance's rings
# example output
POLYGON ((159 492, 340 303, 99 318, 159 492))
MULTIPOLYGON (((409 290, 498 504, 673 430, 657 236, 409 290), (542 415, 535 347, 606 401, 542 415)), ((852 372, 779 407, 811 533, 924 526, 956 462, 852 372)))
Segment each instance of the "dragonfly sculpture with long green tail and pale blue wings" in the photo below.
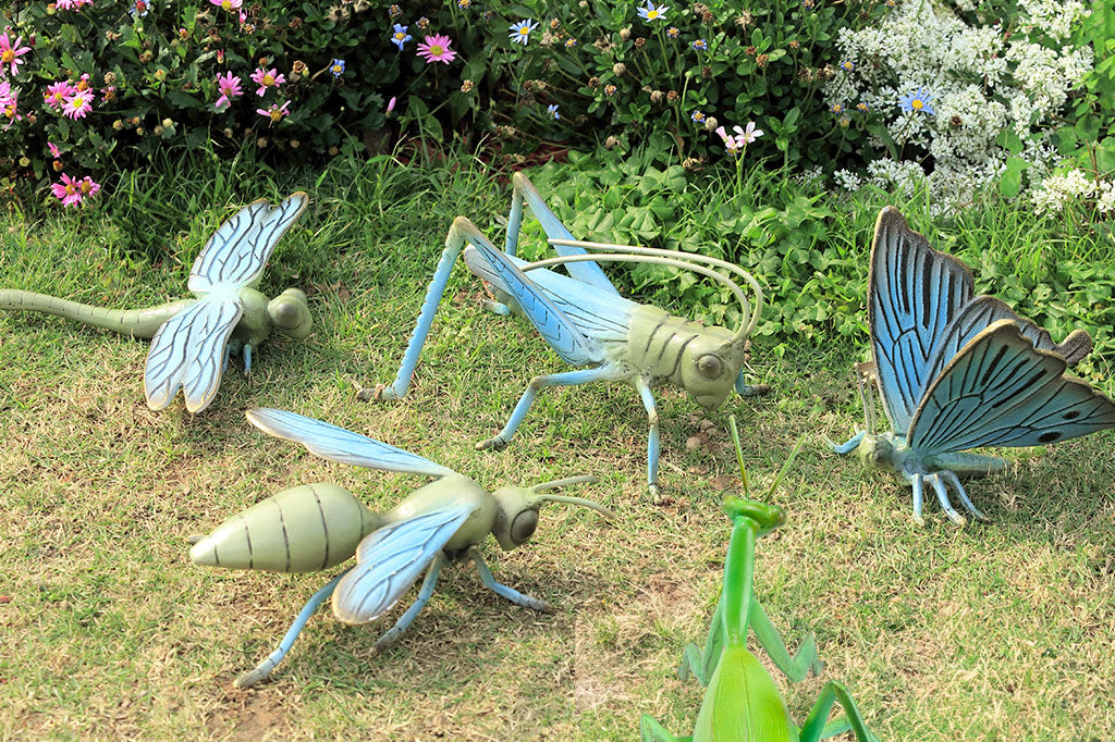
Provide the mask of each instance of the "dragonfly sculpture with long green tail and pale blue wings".
POLYGON ((135 338, 151 338, 144 391, 153 410, 166 408, 182 389, 186 409, 201 412, 216 397, 233 351, 242 350, 244 370, 252 349, 272 330, 301 340, 312 320, 306 294, 288 289, 268 297, 255 290, 279 238, 306 208, 304 193, 272 208, 254 201, 210 237, 190 271, 183 299, 143 310, 109 310, 31 291, 0 290, 0 309, 55 314, 135 338))

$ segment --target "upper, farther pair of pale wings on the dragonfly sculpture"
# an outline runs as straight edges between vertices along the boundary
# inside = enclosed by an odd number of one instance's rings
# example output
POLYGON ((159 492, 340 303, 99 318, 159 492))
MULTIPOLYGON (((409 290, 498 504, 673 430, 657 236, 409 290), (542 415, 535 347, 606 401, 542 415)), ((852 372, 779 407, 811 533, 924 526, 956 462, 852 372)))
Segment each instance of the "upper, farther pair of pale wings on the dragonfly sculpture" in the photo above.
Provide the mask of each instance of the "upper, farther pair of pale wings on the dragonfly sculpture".
POLYGON ((217 286, 253 285, 263 273, 279 238, 299 217, 309 197, 287 196, 272 208, 263 198, 253 201, 217 227, 190 271, 190 291, 211 292, 217 286))

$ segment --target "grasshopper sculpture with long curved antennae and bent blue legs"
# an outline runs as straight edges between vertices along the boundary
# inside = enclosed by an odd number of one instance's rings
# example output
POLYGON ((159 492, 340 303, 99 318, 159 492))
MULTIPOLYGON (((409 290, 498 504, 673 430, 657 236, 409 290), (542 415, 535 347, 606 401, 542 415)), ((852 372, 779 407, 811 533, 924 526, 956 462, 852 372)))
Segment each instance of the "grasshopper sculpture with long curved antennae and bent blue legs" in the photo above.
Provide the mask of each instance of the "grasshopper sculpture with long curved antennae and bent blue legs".
POLYGON ((496 250, 465 217, 458 216, 453 222, 395 381, 389 387, 363 390, 361 398, 395 400, 407 393, 449 273, 463 251, 468 269, 491 284, 505 302, 492 304, 493 311, 525 315, 562 360, 571 365, 591 367, 532 379, 503 430, 477 443, 478 449, 506 447, 534 399, 546 387, 621 381, 636 388, 647 409, 650 421, 647 484, 657 500, 659 421, 652 388, 661 383, 681 387, 707 410, 717 409, 733 389, 741 396, 767 390, 763 385, 748 387, 741 372, 745 343, 758 323, 763 306, 763 290, 749 273, 726 261, 692 253, 574 240, 526 176, 516 173, 505 252, 496 250), (558 257, 534 263, 515 257, 524 202, 558 251, 558 257), (589 254, 585 248, 607 252, 589 254), (599 261, 657 263, 719 281, 739 301, 739 328, 731 331, 705 326, 658 307, 628 301, 612 286, 597 264, 599 261), (549 270, 555 265, 565 265, 570 275, 549 270), (754 292, 754 309, 734 277, 754 292))

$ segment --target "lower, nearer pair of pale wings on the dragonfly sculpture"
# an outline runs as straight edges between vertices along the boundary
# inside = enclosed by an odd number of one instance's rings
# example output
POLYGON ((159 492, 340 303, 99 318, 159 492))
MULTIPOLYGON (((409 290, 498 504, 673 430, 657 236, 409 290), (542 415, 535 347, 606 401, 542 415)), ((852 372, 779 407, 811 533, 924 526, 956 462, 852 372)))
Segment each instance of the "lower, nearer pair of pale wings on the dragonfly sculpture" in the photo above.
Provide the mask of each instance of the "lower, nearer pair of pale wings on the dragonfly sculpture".
POLYGON ((147 404, 162 410, 178 389, 186 409, 201 412, 221 387, 224 346, 243 310, 234 299, 206 296, 163 323, 151 339, 143 385, 147 404))

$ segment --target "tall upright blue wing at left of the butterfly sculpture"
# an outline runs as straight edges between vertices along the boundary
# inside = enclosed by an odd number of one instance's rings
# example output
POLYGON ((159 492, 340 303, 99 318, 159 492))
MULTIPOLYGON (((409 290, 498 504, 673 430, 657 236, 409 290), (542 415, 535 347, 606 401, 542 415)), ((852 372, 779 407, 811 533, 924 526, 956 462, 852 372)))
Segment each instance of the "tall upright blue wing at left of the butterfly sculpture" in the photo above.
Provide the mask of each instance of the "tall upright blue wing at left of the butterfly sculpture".
POLYGON ((929 362, 952 318, 975 293, 963 263, 929 246, 896 208, 879 213, 871 245, 867 312, 883 407, 905 431, 929 385, 929 362))

